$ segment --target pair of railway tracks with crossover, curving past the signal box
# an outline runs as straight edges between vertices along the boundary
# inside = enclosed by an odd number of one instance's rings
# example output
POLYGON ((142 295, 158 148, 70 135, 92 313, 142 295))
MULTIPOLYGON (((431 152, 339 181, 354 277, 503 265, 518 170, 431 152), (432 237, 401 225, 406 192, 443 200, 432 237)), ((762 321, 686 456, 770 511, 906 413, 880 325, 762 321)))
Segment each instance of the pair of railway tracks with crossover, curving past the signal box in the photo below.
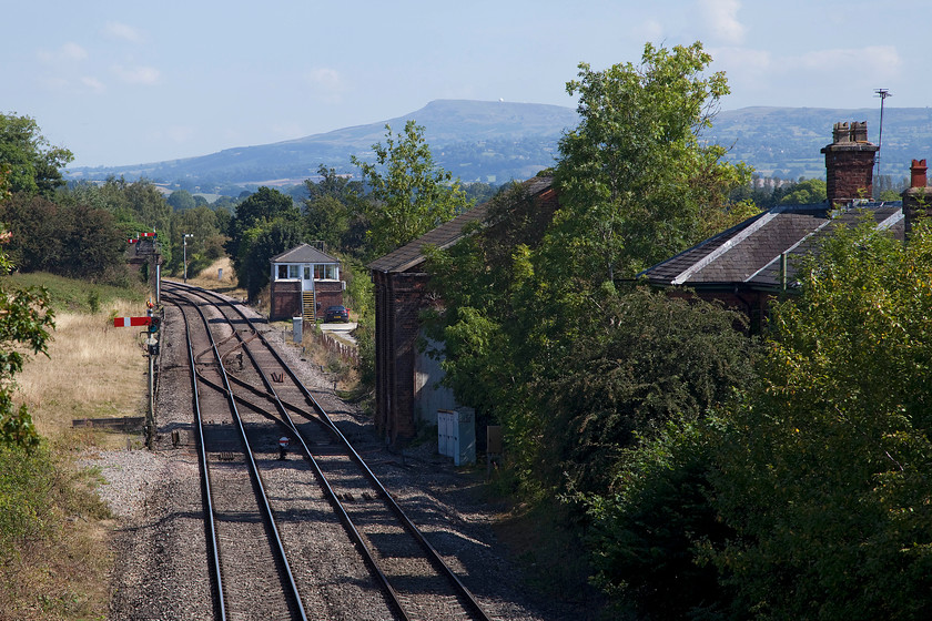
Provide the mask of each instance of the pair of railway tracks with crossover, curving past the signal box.
POLYGON ((174 283, 163 291, 185 319, 204 497, 223 499, 205 511, 217 518, 207 527, 217 618, 325 618, 321 568, 303 551, 322 520, 338 519, 369 568, 359 588, 373 594, 372 618, 489 619, 450 569, 455 559, 444 559, 406 517, 261 324, 216 294, 174 283), (283 436, 292 452, 284 461, 283 436), (267 592, 262 613, 250 617, 241 609, 256 607, 259 586, 267 592))

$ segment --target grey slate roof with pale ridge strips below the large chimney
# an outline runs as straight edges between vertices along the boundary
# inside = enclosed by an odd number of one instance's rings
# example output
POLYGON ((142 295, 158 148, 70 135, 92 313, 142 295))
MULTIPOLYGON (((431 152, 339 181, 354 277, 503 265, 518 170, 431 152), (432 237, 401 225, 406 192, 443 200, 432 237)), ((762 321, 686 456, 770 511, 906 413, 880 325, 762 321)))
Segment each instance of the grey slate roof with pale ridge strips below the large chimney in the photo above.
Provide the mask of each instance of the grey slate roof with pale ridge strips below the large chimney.
POLYGON ((746 220, 638 274, 655 286, 772 289, 781 286, 780 256, 787 253, 787 281, 794 279, 794 258, 813 252, 838 226, 870 214, 878 227, 903 238, 902 203, 869 203, 830 210, 828 203, 780 205, 746 220))

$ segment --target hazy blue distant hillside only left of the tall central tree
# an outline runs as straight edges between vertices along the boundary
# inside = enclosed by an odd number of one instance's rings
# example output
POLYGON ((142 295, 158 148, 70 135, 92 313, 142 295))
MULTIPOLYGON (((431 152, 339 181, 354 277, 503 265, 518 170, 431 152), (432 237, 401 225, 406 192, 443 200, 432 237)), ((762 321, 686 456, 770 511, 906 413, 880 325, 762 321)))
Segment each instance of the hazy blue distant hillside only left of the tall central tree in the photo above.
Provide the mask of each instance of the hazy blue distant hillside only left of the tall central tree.
MULTIPOLYGON (((69 169, 69 179, 102 180, 140 176, 183 186, 301 183, 315 176, 320 164, 355 172, 350 156, 374 160, 372 145, 384 142, 385 125, 401 132, 415 120, 425 128, 434 159, 463 181, 503 183, 524 180, 554 164, 564 129, 577 124, 576 111, 536 103, 440 100, 423 109, 368 125, 257 146, 226 149, 210 155, 110 167, 69 169)), ((189 187, 190 189, 190 187, 189 187)))

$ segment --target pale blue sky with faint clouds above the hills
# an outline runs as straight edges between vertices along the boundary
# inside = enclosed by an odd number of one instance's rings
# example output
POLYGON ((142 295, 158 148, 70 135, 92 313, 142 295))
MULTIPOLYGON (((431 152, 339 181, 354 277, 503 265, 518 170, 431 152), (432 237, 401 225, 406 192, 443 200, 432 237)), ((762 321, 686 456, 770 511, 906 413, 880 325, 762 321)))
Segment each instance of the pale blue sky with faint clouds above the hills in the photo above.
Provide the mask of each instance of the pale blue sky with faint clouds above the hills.
POLYGON ((932 0, 7 2, 0 113, 71 167, 206 155, 438 99, 575 108, 566 83, 701 41, 721 108, 926 106, 932 0))

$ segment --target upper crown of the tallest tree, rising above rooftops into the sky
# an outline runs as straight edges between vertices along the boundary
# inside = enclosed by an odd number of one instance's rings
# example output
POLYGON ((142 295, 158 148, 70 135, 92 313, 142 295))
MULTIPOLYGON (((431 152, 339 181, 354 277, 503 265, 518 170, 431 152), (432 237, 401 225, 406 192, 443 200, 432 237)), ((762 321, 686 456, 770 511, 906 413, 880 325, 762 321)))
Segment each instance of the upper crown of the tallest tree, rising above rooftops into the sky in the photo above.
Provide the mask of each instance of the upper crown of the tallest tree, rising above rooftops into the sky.
MULTIPOLYGON (((725 74, 705 75, 699 42, 672 51, 645 45, 639 65, 592 71, 567 83, 579 95, 579 126, 560 140, 555 250, 568 275, 597 284, 630 277, 708 236, 708 213, 730 211, 729 192, 749 171, 705 144, 725 74)), ((735 221, 744 216, 735 214, 735 221)))

